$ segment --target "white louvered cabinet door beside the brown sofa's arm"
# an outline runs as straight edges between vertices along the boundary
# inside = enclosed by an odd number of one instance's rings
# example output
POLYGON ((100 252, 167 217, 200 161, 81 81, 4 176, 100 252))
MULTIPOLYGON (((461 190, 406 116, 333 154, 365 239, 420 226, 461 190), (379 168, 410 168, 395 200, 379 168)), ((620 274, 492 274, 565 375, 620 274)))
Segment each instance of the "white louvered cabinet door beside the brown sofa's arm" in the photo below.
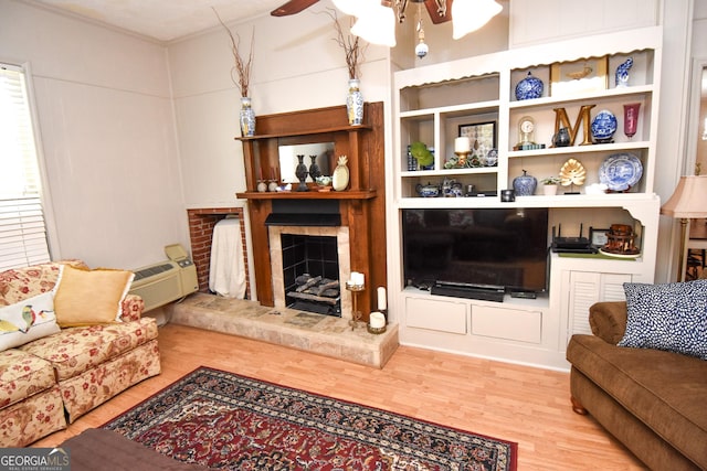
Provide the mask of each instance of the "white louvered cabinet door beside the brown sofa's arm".
POLYGON ((589 308, 594 302, 626 299, 624 282, 631 282, 631 275, 589 271, 570 274, 568 341, 574 333, 592 333, 589 327, 589 308))

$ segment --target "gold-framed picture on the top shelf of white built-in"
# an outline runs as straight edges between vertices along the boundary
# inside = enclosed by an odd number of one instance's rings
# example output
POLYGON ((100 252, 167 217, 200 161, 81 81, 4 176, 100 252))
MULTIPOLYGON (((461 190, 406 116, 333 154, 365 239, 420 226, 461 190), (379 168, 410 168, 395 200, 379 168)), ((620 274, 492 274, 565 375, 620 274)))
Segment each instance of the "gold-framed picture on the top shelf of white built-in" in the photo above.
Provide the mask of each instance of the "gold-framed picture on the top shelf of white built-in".
POLYGON ((609 87, 609 57, 560 62, 550 66, 550 96, 605 90, 609 87))

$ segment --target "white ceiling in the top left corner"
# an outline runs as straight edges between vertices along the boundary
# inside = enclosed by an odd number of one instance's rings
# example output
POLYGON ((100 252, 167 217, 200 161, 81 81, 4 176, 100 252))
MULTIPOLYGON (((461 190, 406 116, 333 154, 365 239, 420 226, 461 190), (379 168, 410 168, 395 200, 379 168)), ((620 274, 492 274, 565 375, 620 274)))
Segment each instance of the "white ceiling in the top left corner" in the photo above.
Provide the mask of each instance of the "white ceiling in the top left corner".
POLYGON ((158 41, 183 38, 219 24, 270 14, 287 0, 29 0, 158 41))

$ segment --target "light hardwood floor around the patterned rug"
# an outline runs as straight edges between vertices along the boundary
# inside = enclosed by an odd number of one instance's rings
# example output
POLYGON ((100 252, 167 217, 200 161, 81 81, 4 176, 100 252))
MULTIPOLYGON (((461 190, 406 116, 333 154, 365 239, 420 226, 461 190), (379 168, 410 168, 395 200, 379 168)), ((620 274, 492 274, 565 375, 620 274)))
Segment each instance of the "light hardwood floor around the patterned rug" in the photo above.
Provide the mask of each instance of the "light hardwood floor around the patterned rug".
POLYGON ((574 414, 567 373, 401 346, 383 370, 167 324, 162 373, 34 443, 53 447, 204 365, 518 442, 518 470, 644 470, 591 417, 574 414))

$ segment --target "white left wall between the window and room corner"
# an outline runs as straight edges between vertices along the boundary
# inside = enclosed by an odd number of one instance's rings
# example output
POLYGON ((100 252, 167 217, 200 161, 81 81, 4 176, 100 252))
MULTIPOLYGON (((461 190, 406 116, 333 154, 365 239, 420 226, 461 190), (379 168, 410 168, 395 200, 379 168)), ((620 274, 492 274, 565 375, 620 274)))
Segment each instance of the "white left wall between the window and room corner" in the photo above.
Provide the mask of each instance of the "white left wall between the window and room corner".
POLYGON ((163 46, 0 0, 0 61, 31 66, 54 258, 137 268, 188 244, 163 46))

